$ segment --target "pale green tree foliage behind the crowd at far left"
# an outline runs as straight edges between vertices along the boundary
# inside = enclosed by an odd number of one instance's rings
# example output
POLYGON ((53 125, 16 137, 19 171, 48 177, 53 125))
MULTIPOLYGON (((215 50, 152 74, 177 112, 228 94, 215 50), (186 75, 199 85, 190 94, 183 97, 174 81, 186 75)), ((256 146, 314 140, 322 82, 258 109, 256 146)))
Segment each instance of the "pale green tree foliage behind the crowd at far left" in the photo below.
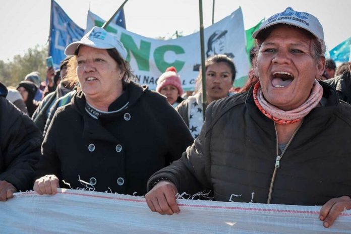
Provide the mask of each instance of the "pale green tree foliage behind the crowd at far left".
POLYGON ((46 76, 47 54, 47 46, 36 45, 34 48, 29 48, 24 55, 15 55, 13 61, 0 60, 0 81, 6 86, 17 87, 28 73, 34 71, 40 73, 43 81, 46 76))

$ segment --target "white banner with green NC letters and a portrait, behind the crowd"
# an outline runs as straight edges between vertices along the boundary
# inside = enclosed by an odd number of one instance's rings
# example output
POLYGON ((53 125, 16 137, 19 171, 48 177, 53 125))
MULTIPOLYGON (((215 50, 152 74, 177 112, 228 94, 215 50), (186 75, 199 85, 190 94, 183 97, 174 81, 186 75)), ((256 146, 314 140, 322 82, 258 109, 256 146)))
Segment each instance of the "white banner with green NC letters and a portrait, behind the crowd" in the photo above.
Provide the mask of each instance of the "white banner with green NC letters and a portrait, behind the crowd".
MULTIPOLYGON (((94 26, 101 27, 104 22, 89 11, 86 32, 94 26)), ((199 32, 173 40, 157 40, 127 31, 113 23, 106 30, 115 33, 126 47, 127 60, 140 84, 156 89, 158 77, 166 68, 174 66, 181 76, 183 88, 189 90, 195 87, 201 64, 199 32)), ((236 82, 242 84, 248 76, 249 62, 241 8, 206 28, 204 36, 206 57, 227 54, 237 68, 236 82)))

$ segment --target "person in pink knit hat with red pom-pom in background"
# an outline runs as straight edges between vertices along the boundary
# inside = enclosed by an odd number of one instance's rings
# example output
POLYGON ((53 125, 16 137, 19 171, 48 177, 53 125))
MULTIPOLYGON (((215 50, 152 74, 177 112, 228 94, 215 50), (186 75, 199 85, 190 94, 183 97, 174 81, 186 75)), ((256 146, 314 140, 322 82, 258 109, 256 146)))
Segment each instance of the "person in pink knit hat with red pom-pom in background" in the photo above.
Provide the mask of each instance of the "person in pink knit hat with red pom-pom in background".
POLYGON ((156 92, 166 96, 167 101, 174 108, 184 100, 181 97, 183 94, 183 88, 177 69, 174 67, 166 69, 166 71, 158 78, 156 92))

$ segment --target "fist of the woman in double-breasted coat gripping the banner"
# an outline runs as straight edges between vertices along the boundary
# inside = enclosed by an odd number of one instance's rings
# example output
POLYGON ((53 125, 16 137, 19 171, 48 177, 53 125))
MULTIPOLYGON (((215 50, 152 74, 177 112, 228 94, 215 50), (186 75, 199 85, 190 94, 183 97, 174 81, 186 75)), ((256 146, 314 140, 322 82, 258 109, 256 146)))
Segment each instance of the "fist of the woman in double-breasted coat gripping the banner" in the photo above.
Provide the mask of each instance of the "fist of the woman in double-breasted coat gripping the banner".
POLYGON ((59 179, 54 174, 47 174, 37 179, 34 183, 33 190, 40 195, 56 194, 59 187, 59 179))

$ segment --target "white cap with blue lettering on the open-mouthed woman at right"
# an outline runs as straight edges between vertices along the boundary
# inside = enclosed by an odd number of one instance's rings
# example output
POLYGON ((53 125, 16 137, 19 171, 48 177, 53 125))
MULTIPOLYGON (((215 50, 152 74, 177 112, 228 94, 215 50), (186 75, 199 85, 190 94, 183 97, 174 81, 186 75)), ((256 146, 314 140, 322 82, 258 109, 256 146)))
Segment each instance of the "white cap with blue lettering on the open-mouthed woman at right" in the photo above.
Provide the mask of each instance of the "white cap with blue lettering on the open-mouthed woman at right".
POLYGON ((325 53, 326 47, 324 42, 324 32, 321 23, 313 15, 306 12, 294 11, 291 7, 285 9, 285 11, 274 14, 264 21, 260 28, 257 29, 253 34, 253 38, 257 38, 257 35, 266 28, 273 26, 275 24, 288 24, 294 25, 299 28, 305 29, 317 37, 318 41, 321 43, 322 53, 325 53))

